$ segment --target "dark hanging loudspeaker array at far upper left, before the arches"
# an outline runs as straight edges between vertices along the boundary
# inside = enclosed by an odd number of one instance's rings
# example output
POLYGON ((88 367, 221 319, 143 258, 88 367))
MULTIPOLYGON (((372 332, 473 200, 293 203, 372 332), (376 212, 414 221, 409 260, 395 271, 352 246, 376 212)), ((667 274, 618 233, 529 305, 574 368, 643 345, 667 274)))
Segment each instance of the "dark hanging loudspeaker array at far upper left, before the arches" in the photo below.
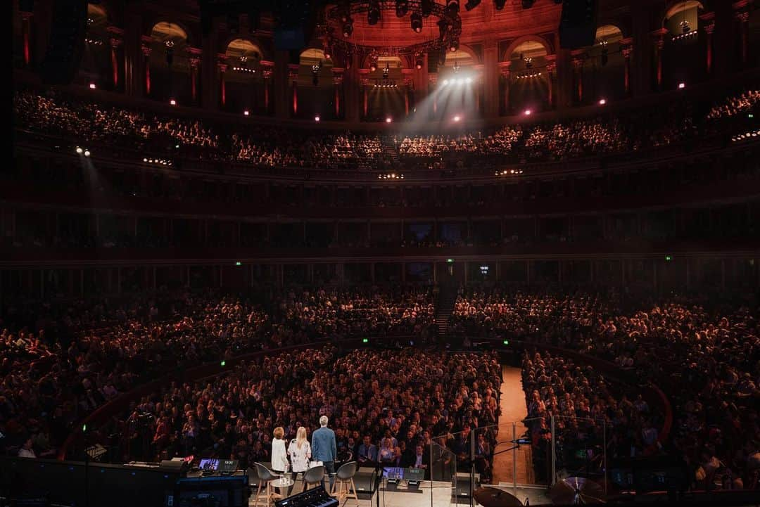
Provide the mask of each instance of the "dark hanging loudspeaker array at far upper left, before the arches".
POLYGON ((87 0, 55 0, 52 19, 40 74, 46 84, 68 84, 74 79, 84 52, 87 0))

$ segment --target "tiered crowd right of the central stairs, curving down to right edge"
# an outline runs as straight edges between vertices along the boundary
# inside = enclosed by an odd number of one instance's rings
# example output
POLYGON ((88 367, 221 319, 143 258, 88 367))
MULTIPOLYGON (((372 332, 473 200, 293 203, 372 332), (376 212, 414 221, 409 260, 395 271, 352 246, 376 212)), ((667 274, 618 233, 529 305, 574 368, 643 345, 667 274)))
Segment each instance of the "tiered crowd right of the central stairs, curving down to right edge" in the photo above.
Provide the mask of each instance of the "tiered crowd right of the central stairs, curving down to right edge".
MULTIPOLYGON (((726 487, 758 487, 760 325, 756 302, 713 305, 706 310, 709 301, 702 295, 676 298, 667 304, 629 304, 626 311, 620 301, 615 294, 470 291, 455 303, 451 329, 570 348, 651 380, 675 405, 672 449, 665 450, 686 460, 692 480, 710 488, 717 480, 731 477, 726 487)), ((534 373, 531 385, 538 381, 537 376, 534 373)), ((548 389, 553 379, 543 379, 547 381, 548 389)), ((575 379, 574 388, 577 383, 575 379)), ((528 398, 534 396, 534 387, 526 389, 528 398)), ((568 390, 566 385, 564 389, 568 390)), ((583 400, 578 398, 574 404, 583 400)), ((547 400, 540 393, 536 401, 546 405, 547 400)), ((654 445, 656 438, 651 438, 651 429, 657 428, 651 418, 646 414, 633 417, 625 411, 622 415, 626 431, 638 433, 627 439, 620 436, 610 444, 613 449, 608 447, 608 453, 660 452, 654 445), (634 420, 638 427, 632 424, 634 420)), ((611 427, 619 425, 613 420, 611 427)))

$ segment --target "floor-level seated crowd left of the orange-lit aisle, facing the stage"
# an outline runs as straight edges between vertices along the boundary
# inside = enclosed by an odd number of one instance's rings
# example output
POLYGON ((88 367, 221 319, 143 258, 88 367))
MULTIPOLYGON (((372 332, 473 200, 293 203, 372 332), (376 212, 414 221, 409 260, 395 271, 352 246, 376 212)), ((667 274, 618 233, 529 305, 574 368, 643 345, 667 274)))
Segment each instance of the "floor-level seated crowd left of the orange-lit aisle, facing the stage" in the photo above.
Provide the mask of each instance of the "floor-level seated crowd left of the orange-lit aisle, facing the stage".
POLYGON ((444 470, 430 464, 433 439, 469 463, 467 436, 480 428, 488 443, 477 466, 488 480, 500 383, 495 354, 308 349, 264 357, 208 383, 167 386, 135 404, 121 427, 146 458, 204 455, 246 468, 270 461, 275 427, 289 441, 326 415, 339 463, 410 467, 424 452, 420 467, 433 474, 444 470), (144 414, 147 430, 136 422, 144 414))

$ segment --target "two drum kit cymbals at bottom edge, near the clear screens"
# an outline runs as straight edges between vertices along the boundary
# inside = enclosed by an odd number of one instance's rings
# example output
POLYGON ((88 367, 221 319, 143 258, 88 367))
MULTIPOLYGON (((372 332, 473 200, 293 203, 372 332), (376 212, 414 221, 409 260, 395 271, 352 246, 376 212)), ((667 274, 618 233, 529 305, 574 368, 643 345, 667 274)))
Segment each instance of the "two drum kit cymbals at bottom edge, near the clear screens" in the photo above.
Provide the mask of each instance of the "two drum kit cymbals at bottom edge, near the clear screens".
MULTIPOLYGON (((516 496, 494 487, 481 487, 473 491, 473 498, 483 507, 521 507, 516 496)), ((567 477, 549 489, 554 505, 584 505, 604 503, 604 490, 598 483, 584 477, 567 477)))

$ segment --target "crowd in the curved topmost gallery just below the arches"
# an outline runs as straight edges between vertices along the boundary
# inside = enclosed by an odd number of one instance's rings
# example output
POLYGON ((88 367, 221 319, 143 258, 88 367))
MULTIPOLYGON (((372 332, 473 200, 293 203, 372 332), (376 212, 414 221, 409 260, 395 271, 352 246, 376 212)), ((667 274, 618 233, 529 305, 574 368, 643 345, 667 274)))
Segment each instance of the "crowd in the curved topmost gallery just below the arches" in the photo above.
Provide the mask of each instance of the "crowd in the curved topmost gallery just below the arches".
POLYGON ((398 159, 404 168, 442 169, 476 162, 496 167, 567 160, 668 146, 717 134, 729 121, 746 124, 743 113, 755 111, 758 101, 760 89, 746 87, 711 105, 684 98, 619 115, 603 113, 594 118, 451 134, 380 135, 223 124, 101 105, 53 90, 18 90, 14 94, 14 126, 54 136, 70 133, 78 143, 139 150, 140 157, 329 169, 397 168, 394 159, 398 159))

